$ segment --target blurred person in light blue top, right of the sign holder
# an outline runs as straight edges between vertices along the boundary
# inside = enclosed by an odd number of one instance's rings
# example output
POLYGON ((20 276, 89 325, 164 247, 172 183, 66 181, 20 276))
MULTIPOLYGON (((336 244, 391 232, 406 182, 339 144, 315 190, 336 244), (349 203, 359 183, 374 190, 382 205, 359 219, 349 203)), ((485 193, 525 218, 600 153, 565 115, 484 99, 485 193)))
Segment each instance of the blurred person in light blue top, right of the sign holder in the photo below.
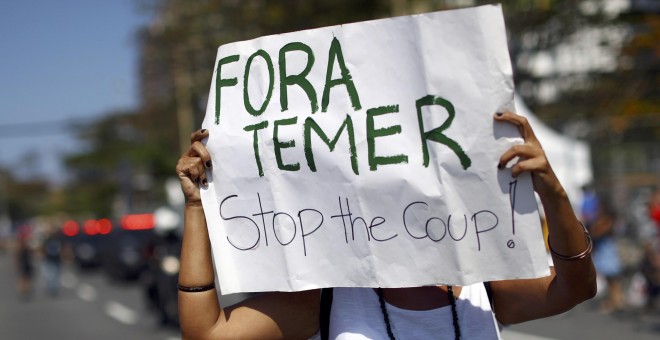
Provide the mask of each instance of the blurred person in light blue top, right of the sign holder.
POLYGON ((606 296, 601 304, 603 313, 616 312, 624 307, 621 286, 622 265, 614 235, 615 226, 614 211, 609 204, 600 201, 596 218, 591 223, 589 232, 594 241, 592 256, 596 273, 602 275, 607 282, 606 296))

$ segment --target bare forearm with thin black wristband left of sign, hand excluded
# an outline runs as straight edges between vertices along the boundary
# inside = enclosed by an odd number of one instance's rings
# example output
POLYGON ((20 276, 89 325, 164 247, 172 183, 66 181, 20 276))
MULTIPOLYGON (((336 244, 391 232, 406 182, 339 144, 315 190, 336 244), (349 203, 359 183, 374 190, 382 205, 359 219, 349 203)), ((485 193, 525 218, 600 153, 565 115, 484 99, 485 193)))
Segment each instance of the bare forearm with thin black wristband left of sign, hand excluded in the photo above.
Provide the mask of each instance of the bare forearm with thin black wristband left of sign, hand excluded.
MULTIPOLYGON (((186 205, 179 284, 200 287, 214 280, 211 243, 204 210, 200 203, 186 205)), ((221 313, 215 289, 194 293, 179 291, 179 320, 184 338, 203 338, 210 334, 221 313)))

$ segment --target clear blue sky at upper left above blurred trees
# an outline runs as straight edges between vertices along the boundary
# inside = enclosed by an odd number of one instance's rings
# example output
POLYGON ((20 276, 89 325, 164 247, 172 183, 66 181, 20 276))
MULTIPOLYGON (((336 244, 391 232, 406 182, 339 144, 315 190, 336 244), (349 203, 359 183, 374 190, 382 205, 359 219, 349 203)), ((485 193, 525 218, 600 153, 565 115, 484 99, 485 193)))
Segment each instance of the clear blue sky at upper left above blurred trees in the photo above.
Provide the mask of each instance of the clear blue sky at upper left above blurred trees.
POLYGON ((64 178, 80 150, 56 121, 90 121, 137 105, 135 0, 0 1, 0 167, 64 178))

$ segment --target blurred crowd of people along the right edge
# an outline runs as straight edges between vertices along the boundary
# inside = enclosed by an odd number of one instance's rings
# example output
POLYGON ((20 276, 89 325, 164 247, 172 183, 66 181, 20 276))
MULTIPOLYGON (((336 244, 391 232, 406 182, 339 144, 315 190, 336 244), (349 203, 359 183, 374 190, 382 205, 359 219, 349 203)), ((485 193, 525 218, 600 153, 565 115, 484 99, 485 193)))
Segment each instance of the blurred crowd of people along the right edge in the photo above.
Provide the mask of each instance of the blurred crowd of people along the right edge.
POLYGON ((580 216, 594 241, 600 310, 652 311, 660 293, 660 189, 640 191, 627 211, 611 203, 585 188, 580 216))

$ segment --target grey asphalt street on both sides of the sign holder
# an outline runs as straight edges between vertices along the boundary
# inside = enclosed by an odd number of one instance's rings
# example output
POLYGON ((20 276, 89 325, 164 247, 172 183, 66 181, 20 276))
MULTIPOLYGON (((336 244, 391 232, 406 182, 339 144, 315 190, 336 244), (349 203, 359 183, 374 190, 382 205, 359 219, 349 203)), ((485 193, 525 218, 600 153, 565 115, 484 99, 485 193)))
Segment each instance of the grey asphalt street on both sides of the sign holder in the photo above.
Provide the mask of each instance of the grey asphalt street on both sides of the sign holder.
MULTIPOLYGON (((147 310, 138 282, 113 282, 102 271, 80 273, 65 267, 62 289, 46 294, 38 270, 32 297, 16 294, 11 256, 0 253, 0 339, 181 339, 178 329, 159 325, 147 310)), ((223 297, 231 304, 240 296, 223 297)), ((660 312, 603 315, 597 301, 552 318, 505 327, 508 340, 660 338, 660 312)))

